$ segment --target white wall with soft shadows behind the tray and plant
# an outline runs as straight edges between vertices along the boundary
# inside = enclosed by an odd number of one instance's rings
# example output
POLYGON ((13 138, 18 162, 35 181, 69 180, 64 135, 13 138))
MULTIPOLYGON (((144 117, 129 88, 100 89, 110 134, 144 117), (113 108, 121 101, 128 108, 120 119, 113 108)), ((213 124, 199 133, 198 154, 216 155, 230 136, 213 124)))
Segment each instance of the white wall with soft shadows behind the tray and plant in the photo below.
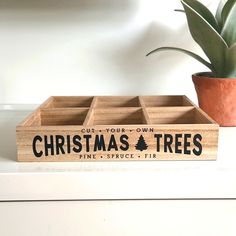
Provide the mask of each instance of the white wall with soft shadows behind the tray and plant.
MULTIPOLYGON (((213 5, 210 0, 203 3, 213 5)), ((203 55, 179 0, 0 0, 0 103, 51 95, 186 94, 207 70, 158 46, 203 55)), ((213 6, 214 7, 214 6, 213 6)))

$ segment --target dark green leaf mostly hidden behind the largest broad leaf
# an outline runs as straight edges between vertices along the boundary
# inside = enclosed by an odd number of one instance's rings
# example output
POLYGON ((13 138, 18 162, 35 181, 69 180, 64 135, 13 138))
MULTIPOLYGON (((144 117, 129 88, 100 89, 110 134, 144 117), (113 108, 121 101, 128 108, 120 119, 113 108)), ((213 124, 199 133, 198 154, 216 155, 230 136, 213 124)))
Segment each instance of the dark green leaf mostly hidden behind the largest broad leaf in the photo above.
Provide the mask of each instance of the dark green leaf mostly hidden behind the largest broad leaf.
POLYGON ((202 3, 196 0, 182 0, 186 5, 194 9, 202 18, 204 18, 217 32, 220 32, 218 27, 218 23, 213 16, 213 14, 209 11, 209 9, 204 6, 202 3))

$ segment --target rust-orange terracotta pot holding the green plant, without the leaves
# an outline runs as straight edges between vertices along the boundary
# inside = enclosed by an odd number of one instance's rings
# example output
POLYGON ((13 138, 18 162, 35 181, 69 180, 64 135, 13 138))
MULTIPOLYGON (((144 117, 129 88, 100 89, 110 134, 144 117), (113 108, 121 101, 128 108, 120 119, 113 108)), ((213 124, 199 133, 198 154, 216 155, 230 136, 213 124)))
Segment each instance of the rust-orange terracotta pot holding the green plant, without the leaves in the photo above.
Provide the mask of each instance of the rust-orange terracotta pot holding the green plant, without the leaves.
POLYGON ((213 78, 206 72, 192 79, 200 108, 220 126, 236 126, 236 78, 213 78))

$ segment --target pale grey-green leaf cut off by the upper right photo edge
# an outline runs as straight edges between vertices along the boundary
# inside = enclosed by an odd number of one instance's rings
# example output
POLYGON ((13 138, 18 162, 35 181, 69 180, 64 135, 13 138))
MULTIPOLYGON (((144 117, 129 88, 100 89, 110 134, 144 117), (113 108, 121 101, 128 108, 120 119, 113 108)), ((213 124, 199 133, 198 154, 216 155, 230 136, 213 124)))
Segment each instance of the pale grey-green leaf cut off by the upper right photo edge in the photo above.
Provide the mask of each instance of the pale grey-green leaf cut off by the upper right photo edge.
POLYGON ((221 32, 222 37, 225 39, 229 47, 236 42, 235 24, 236 24, 236 1, 234 1, 232 9, 228 13, 227 19, 221 32))

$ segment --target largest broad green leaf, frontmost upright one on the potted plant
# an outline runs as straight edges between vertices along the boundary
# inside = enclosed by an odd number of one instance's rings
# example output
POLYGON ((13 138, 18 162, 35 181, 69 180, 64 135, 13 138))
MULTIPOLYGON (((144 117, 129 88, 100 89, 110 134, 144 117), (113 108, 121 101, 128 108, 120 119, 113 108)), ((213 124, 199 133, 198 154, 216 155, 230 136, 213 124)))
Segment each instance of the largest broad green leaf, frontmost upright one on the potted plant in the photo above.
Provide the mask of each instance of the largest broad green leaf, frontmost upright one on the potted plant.
POLYGON ((213 67, 215 76, 222 77, 225 67, 227 44, 221 35, 186 1, 181 1, 187 16, 190 33, 200 45, 213 67))

